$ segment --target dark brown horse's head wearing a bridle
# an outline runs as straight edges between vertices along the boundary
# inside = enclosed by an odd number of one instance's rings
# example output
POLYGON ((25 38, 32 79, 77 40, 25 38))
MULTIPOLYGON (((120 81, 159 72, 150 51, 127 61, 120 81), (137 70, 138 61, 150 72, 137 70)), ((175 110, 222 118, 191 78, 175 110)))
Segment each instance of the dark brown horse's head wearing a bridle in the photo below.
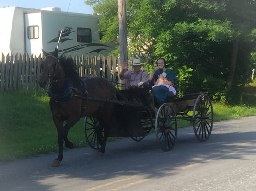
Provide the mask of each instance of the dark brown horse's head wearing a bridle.
POLYGON ((41 63, 41 73, 39 78, 40 87, 44 88, 49 80, 55 77, 57 65, 58 65, 58 51, 55 50, 54 54, 47 53, 43 50, 45 55, 44 60, 41 63))

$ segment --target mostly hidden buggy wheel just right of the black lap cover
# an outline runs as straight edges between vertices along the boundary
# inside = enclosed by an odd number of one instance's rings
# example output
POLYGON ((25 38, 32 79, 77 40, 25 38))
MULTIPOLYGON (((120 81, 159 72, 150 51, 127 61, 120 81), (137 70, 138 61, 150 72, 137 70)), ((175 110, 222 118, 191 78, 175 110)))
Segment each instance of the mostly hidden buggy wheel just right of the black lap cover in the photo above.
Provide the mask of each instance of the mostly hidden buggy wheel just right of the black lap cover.
POLYGON ((143 138, 145 138, 150 130, 154 128, 153 118, 148 108, 146 108, 146 110, 138 111, 138 115, 140 116, 140 123, 142 126, 143 135, 131 137, 132 140, 136 142, 140 142, 143 138))

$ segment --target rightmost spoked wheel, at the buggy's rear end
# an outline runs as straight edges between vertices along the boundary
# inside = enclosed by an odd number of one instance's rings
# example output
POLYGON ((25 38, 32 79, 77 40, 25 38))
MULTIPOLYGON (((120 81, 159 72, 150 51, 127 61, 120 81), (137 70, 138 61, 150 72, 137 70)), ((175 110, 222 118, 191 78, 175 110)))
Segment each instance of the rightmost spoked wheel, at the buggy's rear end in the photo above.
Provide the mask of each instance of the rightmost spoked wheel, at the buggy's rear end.
POLYGON ((195 101, 192 124, 196 138, 200 142, 210 137, 213 127, 213 107, 206 94, 199 95, 195 101))

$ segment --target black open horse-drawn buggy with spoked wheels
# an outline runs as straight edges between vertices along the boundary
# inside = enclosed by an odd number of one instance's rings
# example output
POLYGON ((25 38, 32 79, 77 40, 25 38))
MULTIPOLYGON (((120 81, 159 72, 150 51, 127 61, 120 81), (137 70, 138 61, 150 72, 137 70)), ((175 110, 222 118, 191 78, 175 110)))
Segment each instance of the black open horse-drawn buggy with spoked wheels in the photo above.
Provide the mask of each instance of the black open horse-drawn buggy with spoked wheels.
MULTIPOLYGON (((161 148, 168 151, 173 148, 177 138, 177 121, 191 122, 196 138, 206 141, 213 127, 213 106, 206 92, 187 94, 180 98, 168 97, 167 102, 155 107, 151 88, 119 90, 117 100, 108 100, 115 104, 115 122, 108 137, 131 137, 141 141, 152 129, 161 148)), ((84 133, 89 146, 98 150, 99 121, 85 117, 84 133)))

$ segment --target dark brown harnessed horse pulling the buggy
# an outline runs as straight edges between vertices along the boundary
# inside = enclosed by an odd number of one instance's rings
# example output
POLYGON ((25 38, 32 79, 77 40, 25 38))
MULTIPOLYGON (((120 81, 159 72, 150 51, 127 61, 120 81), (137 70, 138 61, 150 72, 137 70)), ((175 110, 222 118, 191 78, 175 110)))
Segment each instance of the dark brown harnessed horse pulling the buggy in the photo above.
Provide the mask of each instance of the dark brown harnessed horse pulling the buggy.
POLYGON ((67 148, 75 147, 67 135, 81 117, 99 120, 99 153, 104 153, 114 107, 104 100, 116 99, 115 86, 100 77, 82 81, 73 60, 62 56, 58 58, 57 51, 53 55, 44 52, 44 55, 39 85, 42 88, 49 85, 50 109, 58 133, 58 157, 52 166, 59 166, 63 159, 63 141, 67 148))

